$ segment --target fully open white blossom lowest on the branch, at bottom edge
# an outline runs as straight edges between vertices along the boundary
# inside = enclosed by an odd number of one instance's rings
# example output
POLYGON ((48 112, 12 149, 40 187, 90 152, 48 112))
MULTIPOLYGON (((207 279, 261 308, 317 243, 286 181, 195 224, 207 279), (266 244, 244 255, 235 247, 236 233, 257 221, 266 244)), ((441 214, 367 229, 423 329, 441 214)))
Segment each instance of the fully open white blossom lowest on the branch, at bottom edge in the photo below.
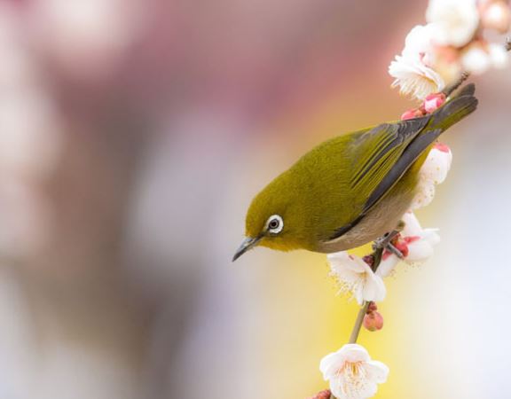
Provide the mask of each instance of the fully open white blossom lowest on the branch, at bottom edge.
POLYGON ((365 399, 384 383, 389 367, 371 359, 366 348, 358 344, 347 344, 337 352, 321 359, 319 370, 329 381, 332 394, 338 399, 365 399))

